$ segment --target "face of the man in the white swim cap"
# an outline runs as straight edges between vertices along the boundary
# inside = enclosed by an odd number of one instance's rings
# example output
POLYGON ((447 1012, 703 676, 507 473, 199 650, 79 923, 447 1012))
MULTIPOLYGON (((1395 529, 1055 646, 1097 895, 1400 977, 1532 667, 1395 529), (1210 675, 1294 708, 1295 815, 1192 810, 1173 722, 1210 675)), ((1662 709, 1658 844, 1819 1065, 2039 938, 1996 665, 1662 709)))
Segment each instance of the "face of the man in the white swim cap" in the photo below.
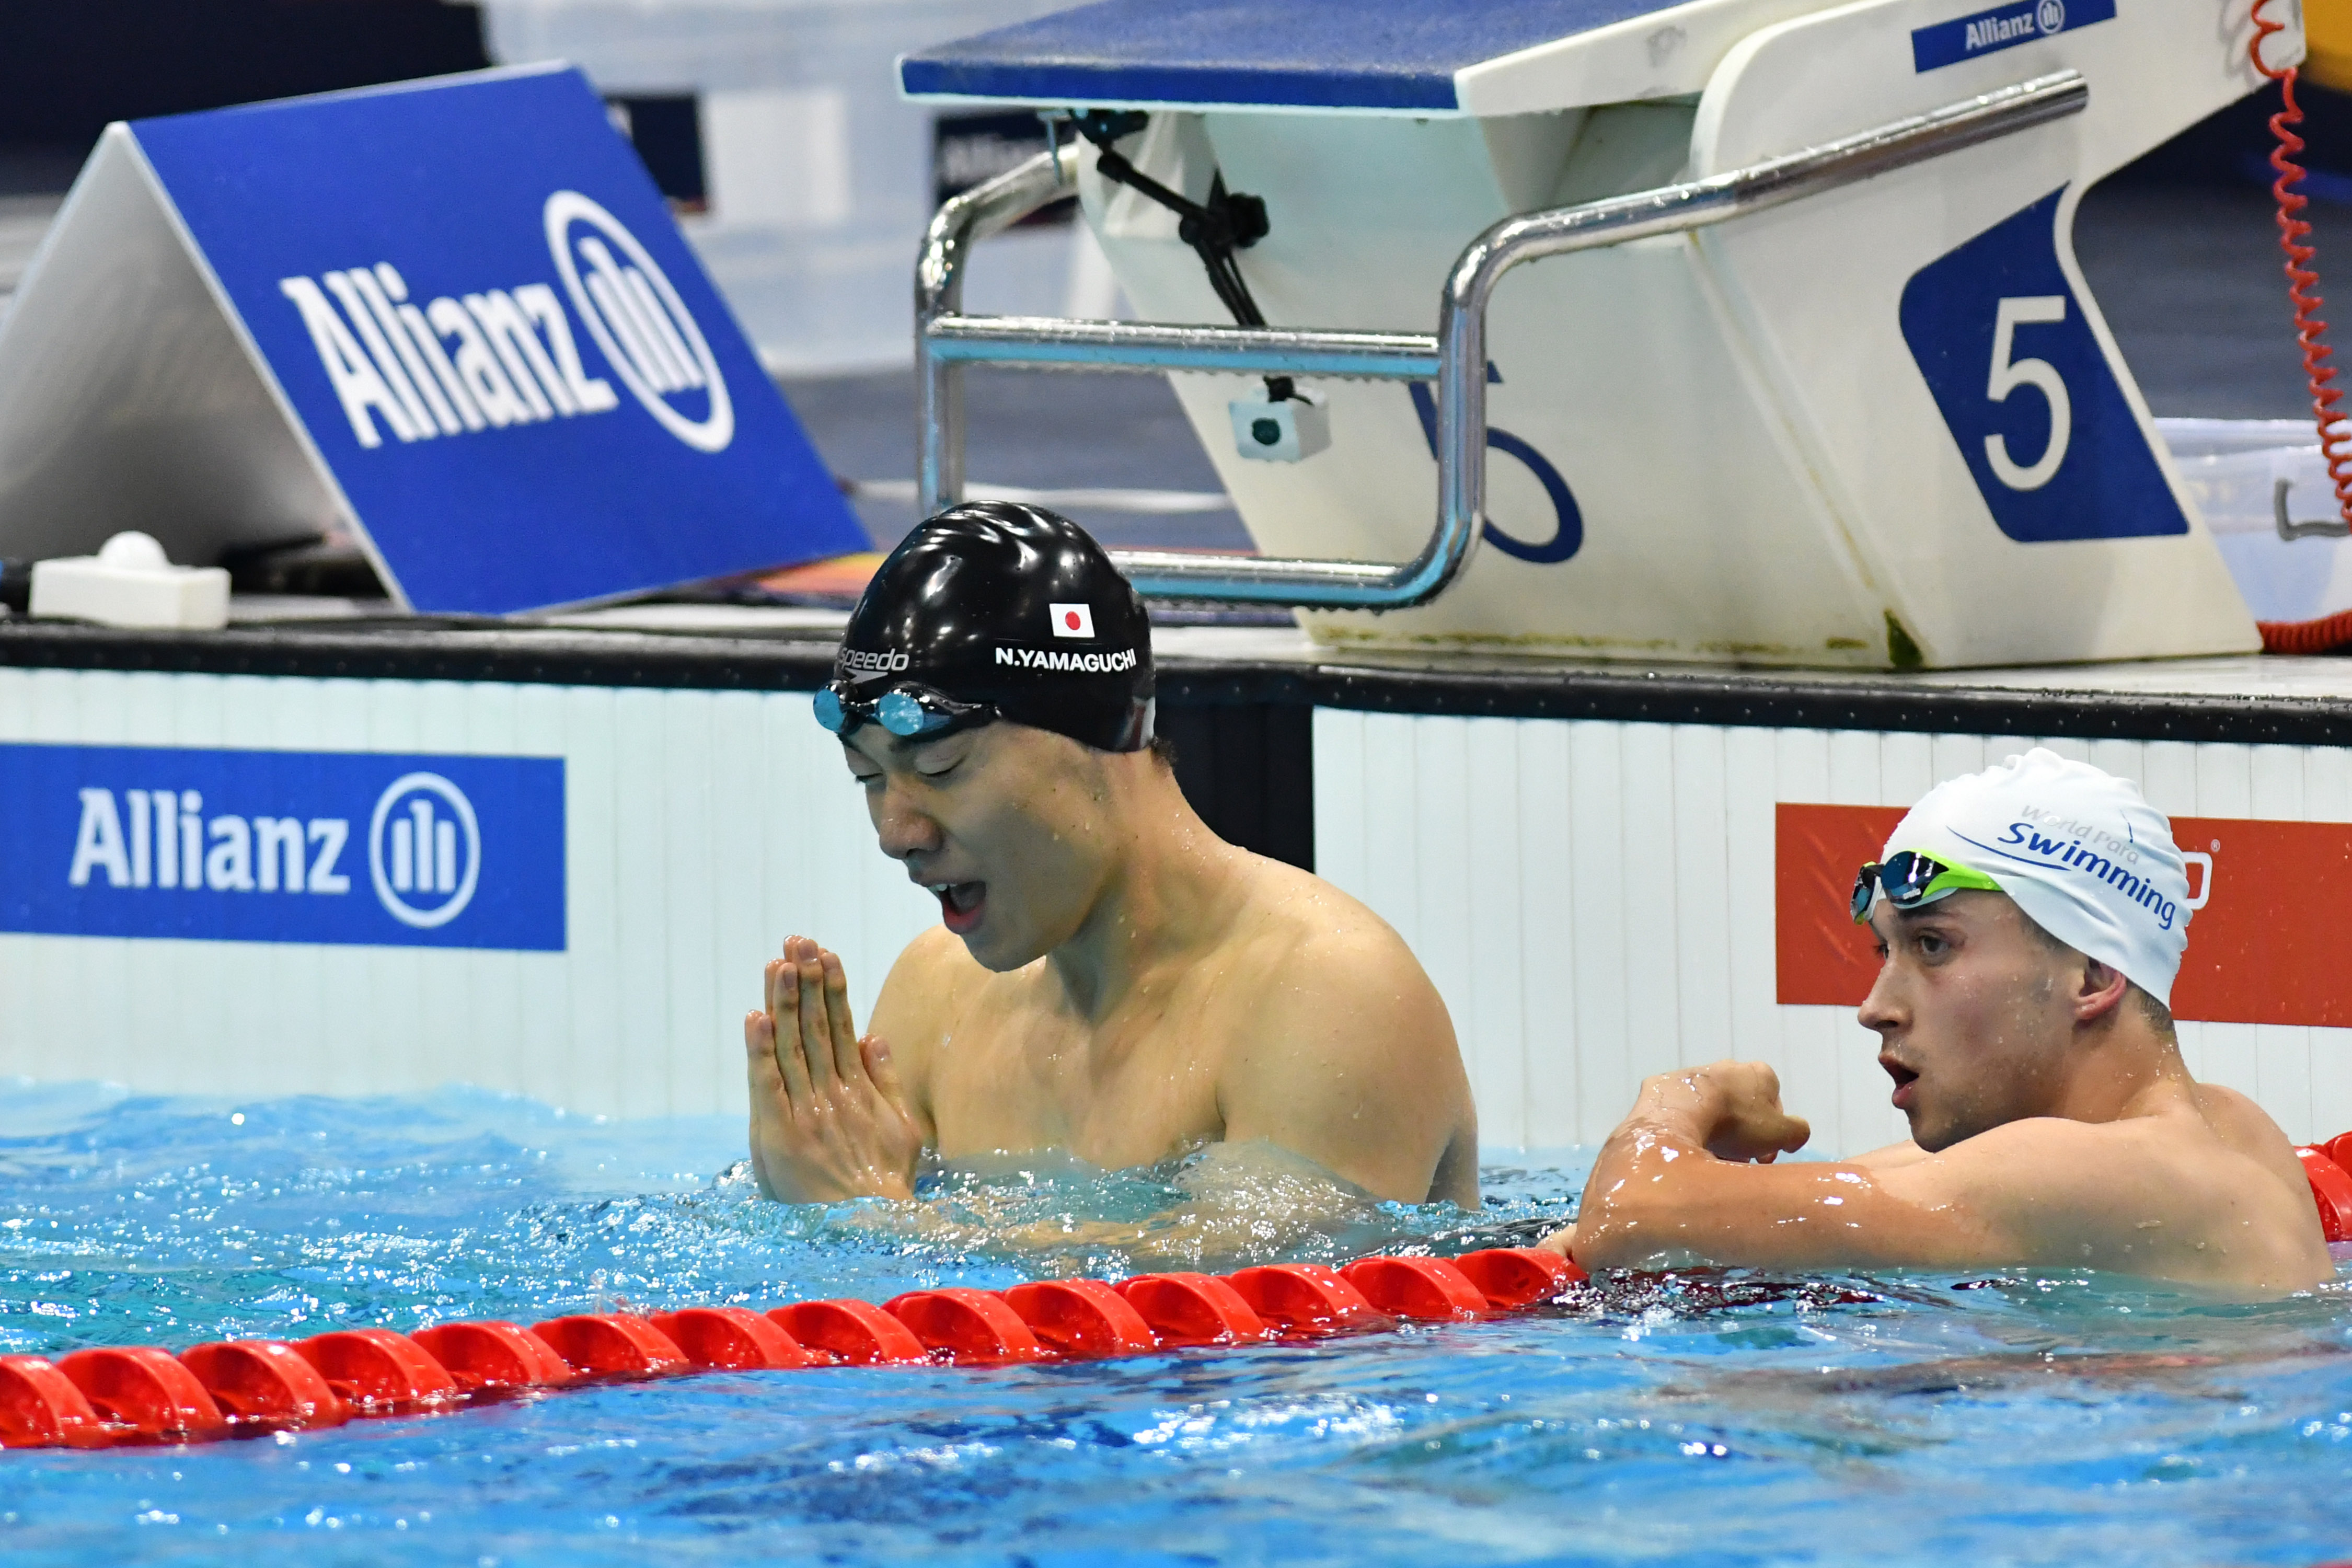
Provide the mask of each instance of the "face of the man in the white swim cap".
POLYGON ((1882 964, 1860 1020, 1879 1034, 1912 1143, 1933 1154, 2053 1114, 2084 957, 2046 940, 2004 893, 1959 891, 1915 910, 1882 898, 1870 929, 1882 964))

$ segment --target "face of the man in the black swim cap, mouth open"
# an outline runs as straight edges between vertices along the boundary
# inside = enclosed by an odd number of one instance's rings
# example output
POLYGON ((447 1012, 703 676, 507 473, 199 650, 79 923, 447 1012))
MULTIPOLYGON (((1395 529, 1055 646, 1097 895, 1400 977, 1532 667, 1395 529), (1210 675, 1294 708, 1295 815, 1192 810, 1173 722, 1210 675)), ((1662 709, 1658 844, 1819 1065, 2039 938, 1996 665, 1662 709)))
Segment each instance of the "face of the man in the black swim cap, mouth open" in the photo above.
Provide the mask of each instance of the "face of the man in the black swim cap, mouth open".
POLYGON ((1096 752, 1025 724, 903 741, 880 724, 842 738, 882 853, 938 898, 974 961, 1021 969, 1070 940, 1112 863, 1115 766, 1150 752, 1096 752))

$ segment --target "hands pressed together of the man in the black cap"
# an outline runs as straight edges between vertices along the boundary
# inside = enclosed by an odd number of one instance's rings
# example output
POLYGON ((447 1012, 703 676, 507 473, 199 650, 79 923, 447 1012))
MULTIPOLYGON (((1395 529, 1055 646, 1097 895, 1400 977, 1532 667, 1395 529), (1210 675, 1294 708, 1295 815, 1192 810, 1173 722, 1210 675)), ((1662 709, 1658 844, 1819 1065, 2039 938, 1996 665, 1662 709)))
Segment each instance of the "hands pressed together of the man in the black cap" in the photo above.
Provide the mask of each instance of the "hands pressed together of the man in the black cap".
POLYGON ((786 938, 767 966, 767 1011, 743 1018, 750 1166, 788 1204, 915 1194, 922 1126, 889 1046, 856 1037, 840 957, 786 938))

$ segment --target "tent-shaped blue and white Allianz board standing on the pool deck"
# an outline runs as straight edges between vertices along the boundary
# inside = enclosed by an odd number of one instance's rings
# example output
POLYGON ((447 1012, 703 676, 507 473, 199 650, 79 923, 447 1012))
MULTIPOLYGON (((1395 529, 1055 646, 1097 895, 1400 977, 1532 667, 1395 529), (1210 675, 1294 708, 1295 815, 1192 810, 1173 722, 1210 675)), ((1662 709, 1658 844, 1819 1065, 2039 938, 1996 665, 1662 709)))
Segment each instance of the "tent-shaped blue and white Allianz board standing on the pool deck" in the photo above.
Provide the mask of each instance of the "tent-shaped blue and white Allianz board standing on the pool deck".
POLYGON ((350 529, 419 611, 866 550, 576 71, 115 125, 0 320, 0 543, 350 529))

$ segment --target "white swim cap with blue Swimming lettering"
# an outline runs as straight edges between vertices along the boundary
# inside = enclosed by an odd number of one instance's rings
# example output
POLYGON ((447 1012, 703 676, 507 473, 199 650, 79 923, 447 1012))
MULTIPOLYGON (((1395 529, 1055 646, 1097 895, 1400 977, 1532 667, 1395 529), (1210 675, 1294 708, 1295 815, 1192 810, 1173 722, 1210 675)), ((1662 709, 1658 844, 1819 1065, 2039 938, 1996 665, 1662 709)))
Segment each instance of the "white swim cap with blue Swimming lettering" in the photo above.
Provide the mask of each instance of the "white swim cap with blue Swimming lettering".
POLYGON ((2129 780, 2034 748, 1936 785, 1879 853, 1983 872, 2067 947, 2164 1006, 2190 945, 2190 879, 2173 825, 2129 780))

